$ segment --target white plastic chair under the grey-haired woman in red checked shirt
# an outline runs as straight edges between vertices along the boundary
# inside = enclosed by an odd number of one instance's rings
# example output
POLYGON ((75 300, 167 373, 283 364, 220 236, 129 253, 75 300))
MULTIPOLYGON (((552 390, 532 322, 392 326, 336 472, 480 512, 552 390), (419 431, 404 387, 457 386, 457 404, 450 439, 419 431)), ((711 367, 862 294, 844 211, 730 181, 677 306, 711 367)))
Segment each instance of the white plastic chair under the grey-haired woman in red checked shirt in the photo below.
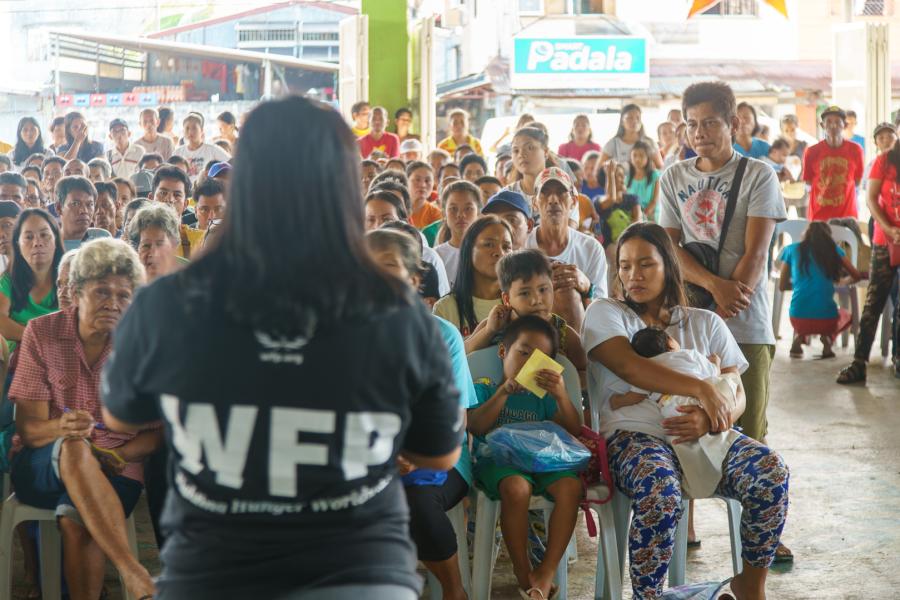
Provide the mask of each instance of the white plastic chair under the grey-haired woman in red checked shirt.
MULTIPOLYGON (((40 531, 41 598, 59 600, 62 595, 62 538, 56 525, 56 512, 22 504, 15 494, 6 499, 0 511, 0 600, 12 598, 13 536, 16 526, 24 521, 37 521, 40 531)), ((131 553, 137 557, 137 533, 133 515, 125 522, 125 531, 131 553)), ((126 600, 134 600, 121 577, 119 583, 126 600)))

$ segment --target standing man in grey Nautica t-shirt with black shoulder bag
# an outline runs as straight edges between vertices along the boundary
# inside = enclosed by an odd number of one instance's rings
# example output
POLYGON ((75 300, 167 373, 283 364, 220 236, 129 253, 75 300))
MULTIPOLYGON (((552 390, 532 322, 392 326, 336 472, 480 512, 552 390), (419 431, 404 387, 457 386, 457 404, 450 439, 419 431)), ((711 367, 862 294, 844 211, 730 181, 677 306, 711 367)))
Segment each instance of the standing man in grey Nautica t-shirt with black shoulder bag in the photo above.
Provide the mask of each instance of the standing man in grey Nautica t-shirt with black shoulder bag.
POLYGON ((769 369, 775 354, 771 306, 766 289, 766 256, 775 224, 786 217, 775 172, 748 159, 734 216, 719 255, 719 272, 701 266, 684 244, 719 247, 728 192, 740 156, 731 146, 737 127, 734 93, 726 84, 704 82, 688 87, 682 109, 697 158, 673 164, 660 179, 660 224, 678 248, 685 279, 712 294, 715 310, 734 335, 750 368, 743 374, 747 408, 738 421, 744 433, 763 441, 769 369))

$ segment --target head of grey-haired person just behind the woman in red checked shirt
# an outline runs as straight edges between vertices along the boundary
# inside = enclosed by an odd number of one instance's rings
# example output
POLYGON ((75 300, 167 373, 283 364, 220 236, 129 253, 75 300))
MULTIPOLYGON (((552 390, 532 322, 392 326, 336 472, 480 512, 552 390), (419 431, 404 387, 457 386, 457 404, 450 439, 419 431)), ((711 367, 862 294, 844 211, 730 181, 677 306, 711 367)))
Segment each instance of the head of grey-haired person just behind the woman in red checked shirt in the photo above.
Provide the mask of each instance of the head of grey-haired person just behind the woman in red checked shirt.
POLYGON ((128 222, 128 238, 147 270, 148 281, 168 275, 188 262, 177 255, 181 233, 171 206, 152 202, 137 211, 128 222))

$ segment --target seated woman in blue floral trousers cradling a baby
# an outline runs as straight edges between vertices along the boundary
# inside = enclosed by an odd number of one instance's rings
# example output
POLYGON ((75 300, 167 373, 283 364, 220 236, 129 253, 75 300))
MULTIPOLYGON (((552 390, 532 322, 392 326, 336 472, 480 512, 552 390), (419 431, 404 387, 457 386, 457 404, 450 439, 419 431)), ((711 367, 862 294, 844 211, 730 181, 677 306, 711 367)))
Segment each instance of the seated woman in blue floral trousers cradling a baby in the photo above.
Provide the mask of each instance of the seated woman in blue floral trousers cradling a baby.
POLYGON ((618 240, 614 265, 625 300, 594 302, 585 314, 583 340, 610 470, 634 513, 629 532, 634 598, 662 593, 682 494, 713 489, 743 506, 744 566, 731 583, 732 594, 736 600, 764 600, 766 574, 787 515, 789 476, 781 457, 730 431, 744 408, 735 375, 746 370, 747 361, 718 315, 688 307, 675 249, 661 227, 631 225, 618 240), (635 334, 648 327, 668 334, 659 356, 635 350, 640 348, 635 334), (701 378, 696 369, 677 368, 689 361, 658 360, 673 359, 681 349, 710 357, 705 360, 713 364, 699 372, 717 376, 701 378), (660 394, 692 400, 664 410, 660 394), (678 416, 666 416, 671 414, 678 416), (698 456, 707 459, 705 479, 692 468, 698 456), (710 464, 718 477, 712 487, 710 464))

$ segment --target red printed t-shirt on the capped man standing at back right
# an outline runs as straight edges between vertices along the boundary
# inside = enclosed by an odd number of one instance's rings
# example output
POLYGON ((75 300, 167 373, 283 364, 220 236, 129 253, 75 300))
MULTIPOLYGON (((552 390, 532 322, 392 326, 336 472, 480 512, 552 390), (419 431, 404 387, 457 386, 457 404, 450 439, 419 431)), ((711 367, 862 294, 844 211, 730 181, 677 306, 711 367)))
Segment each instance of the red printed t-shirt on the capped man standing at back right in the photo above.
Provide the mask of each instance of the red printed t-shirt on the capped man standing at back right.
POLYGON ((856 184, 863 174, 859 144, 844 140, 837 148, 822 141, 803 155, 803 180, 811 187, 809 220, 857 216, 856 184))

